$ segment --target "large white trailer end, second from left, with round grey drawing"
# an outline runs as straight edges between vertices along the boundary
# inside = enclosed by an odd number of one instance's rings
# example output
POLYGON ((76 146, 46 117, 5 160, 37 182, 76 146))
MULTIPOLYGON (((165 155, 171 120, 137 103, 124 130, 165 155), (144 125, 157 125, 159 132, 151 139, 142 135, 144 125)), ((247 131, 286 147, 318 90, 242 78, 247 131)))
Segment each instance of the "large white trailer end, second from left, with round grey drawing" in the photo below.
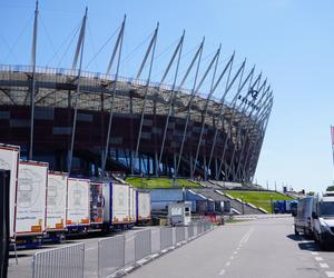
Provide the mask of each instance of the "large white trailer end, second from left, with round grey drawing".
POLYGON ((20 161, 14 232, 39 235, 46 230, 49 165, 20 161))

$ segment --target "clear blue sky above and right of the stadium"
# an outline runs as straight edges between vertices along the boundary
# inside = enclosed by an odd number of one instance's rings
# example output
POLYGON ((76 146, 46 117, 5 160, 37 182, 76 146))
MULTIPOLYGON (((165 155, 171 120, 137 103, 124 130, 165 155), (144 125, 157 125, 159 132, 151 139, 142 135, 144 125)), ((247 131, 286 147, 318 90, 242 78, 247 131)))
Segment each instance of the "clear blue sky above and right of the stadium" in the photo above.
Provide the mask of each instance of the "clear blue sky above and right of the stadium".
MULTIPOLYGON (((160 30, 155 72, 163 70, 183 29, 186 29, 184 53, 188 53, 185 60, 203 36, 206 37, 206 61, 220 42, 223 61, 233 50, 236 64, 247 57, 247 68, 255 63, 257 72, 263 70, 275 93, 256 179, 263 185, 268 180, 271 187, 276 181, 279 187, 284 182, 295 189, 315 191, 332 185, 333 1, 45 0, 40 1, 38 64, 70 66, 76 41, 68 52, 66 48, 86 6, 89 7, 84 59, 87 70, 106 70, 114 40, 87 63, 117 30, 125 13, 124 58, 128 58, 121 64, 124 76, 131 76, 138 69, 147 38, 157 21, 160 30), (144 44, 131 54, 141 41, 144 44)), ((33 7, 32 0, 0 1, 0 63, 30 62, 33 7)), ((158 81, 159 76, 154 75, 154 78, 158 81)))

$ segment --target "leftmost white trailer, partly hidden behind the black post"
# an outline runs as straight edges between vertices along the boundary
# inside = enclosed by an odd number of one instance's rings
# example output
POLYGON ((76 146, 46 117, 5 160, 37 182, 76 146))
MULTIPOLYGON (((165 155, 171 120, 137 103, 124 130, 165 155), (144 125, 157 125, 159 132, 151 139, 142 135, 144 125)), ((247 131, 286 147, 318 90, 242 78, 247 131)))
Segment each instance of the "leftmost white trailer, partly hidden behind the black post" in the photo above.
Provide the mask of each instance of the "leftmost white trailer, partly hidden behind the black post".
POLYGON ((16 198, 18 188, 20 147, 0 143, 0 169, 10 170, 9 236, 14 236, 16 198))

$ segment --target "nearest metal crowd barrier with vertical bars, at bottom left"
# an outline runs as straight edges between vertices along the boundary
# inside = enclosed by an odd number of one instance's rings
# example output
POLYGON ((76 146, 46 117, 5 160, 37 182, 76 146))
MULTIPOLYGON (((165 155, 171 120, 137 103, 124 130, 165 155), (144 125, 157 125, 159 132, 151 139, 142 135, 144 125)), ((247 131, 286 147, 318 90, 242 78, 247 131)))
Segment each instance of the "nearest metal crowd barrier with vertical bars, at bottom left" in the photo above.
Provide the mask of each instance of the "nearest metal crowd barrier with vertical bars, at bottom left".
POLYGON ((84 278, 85 244, 33 255, 32 278, 84 278))

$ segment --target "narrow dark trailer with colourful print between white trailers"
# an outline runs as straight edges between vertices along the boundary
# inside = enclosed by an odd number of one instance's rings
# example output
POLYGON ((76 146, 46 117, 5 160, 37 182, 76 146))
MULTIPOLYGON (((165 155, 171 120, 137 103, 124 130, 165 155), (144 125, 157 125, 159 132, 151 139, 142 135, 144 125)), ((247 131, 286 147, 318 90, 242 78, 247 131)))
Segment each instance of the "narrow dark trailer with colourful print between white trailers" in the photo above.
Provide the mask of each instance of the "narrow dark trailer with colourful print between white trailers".
POLYGON ((90 225, 94 228, 104 224, 102 186, 101 182, 90 182, 90 225))

